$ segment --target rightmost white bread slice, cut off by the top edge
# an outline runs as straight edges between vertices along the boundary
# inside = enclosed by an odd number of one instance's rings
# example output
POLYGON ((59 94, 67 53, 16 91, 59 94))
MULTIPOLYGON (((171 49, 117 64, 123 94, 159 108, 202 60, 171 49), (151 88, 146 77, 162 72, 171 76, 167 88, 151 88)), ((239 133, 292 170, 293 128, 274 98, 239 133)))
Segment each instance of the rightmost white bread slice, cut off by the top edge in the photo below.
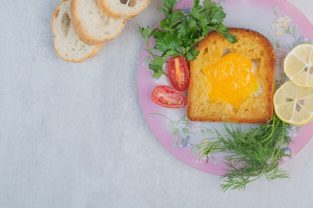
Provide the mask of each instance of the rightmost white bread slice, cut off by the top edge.
POLYGON ((131 19, 144 9, 150 0, 97 0, 99 7, 108 16, 131 19))

